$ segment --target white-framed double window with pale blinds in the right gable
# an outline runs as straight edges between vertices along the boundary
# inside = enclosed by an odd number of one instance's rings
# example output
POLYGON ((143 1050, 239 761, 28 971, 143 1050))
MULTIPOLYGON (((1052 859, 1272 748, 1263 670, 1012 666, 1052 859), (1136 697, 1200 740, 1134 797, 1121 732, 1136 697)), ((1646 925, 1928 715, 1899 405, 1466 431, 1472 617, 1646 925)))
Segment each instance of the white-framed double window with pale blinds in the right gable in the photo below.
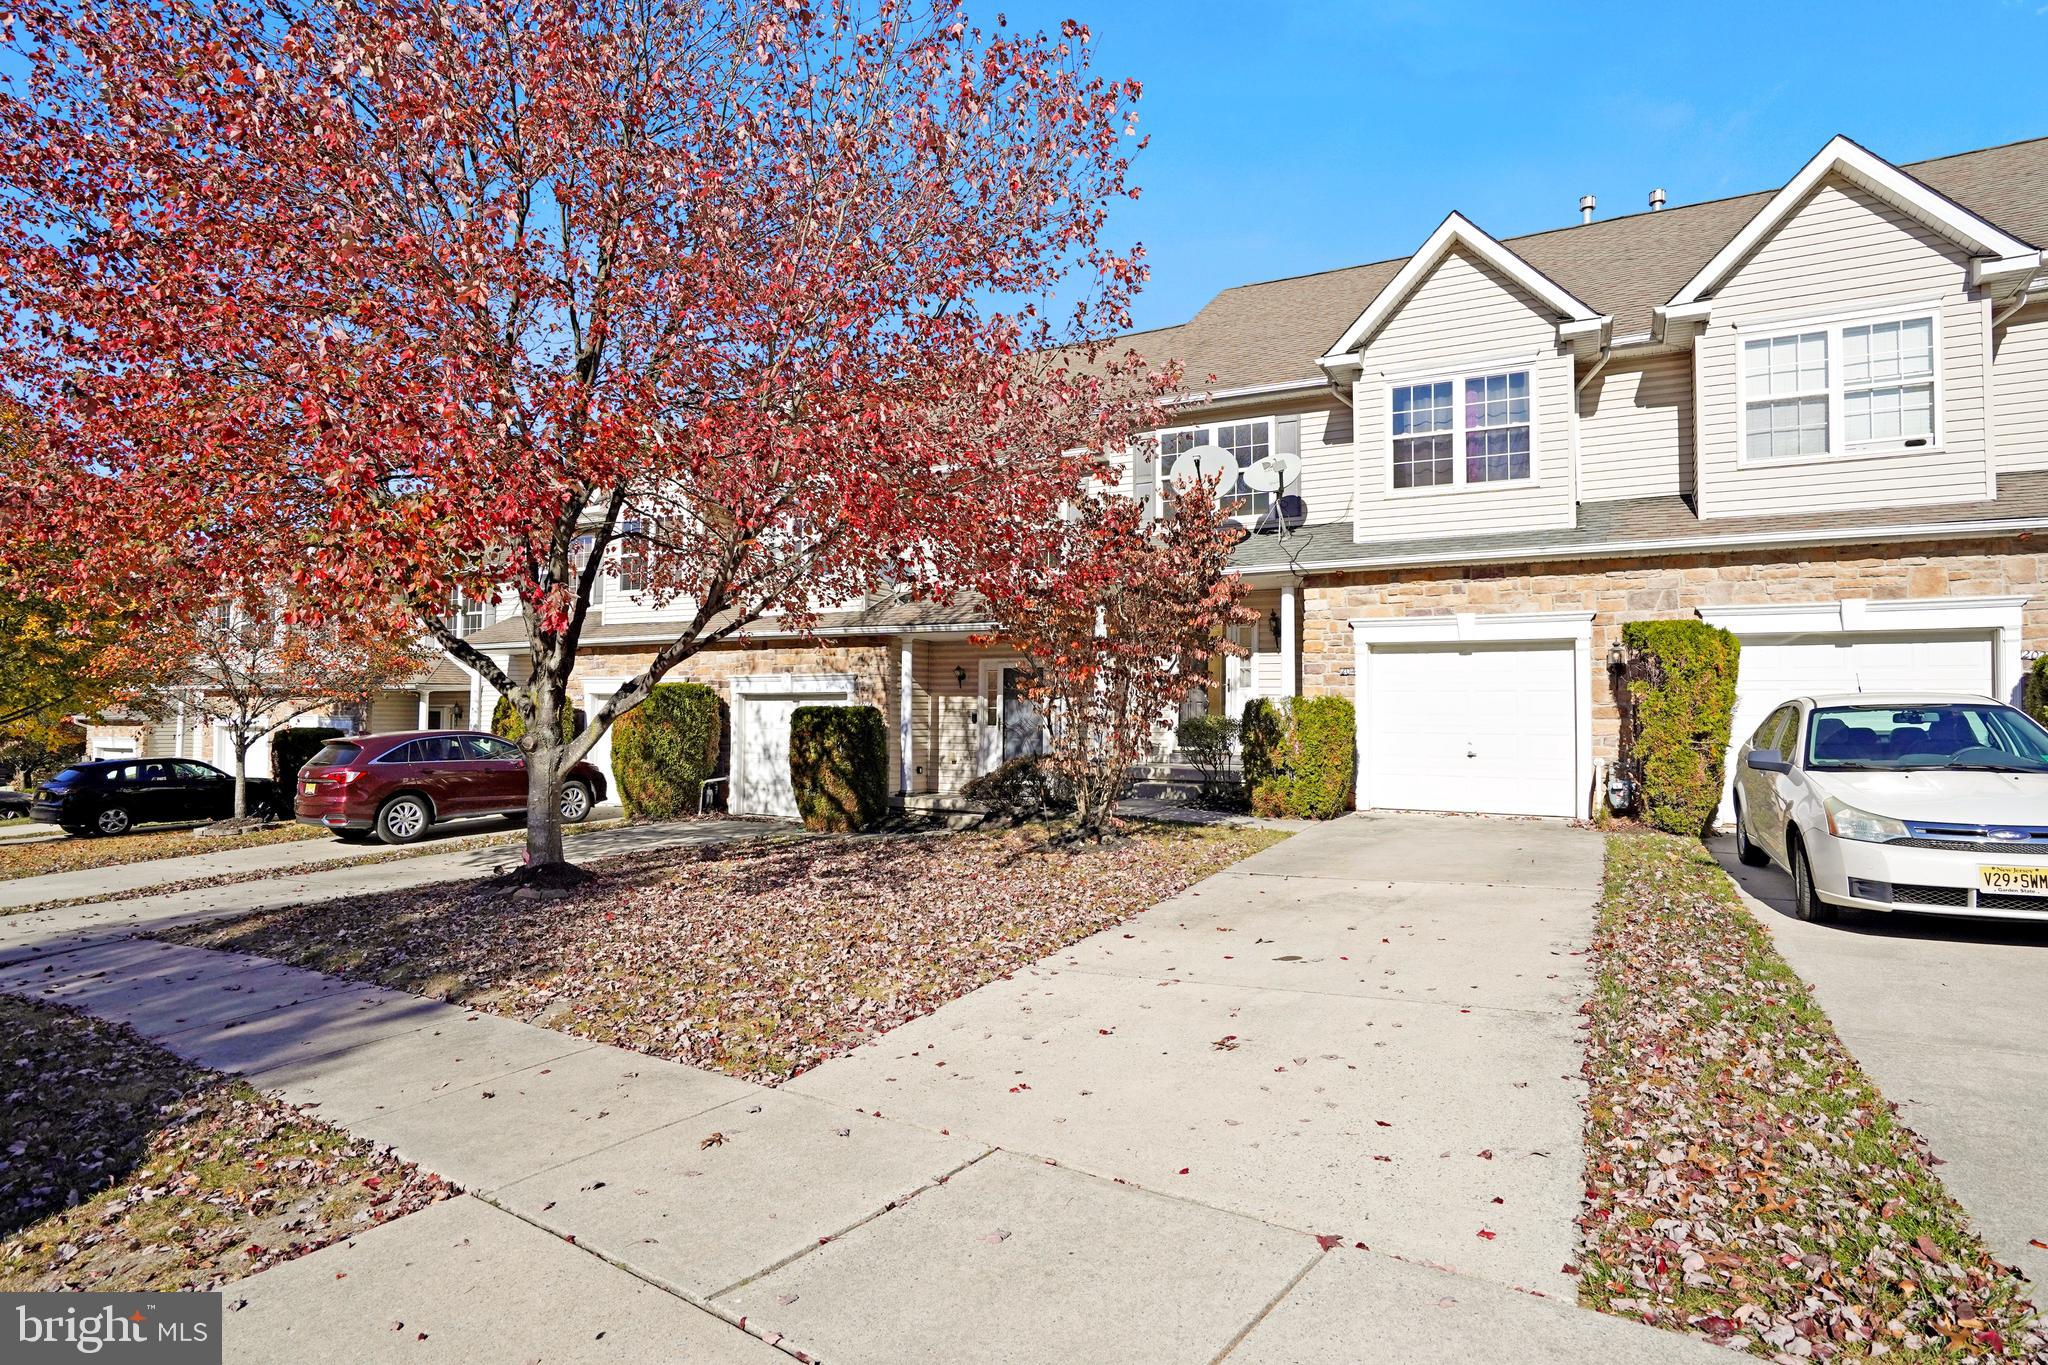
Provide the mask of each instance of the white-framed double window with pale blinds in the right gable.
POLYGON ((1931 315, 1743 342, 1743 454, 1788 460, 1935 440, 1931 315))

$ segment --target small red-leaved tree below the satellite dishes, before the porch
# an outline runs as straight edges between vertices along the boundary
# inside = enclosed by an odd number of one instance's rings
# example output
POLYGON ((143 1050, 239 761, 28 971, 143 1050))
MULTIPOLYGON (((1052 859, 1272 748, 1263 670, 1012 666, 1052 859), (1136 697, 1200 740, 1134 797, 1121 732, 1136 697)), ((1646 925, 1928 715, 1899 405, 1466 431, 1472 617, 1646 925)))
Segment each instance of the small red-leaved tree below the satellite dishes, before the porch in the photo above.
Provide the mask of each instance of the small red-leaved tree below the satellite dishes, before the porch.
POLYGON ((1229 571, 1245 532, 1214 493, 1196 483, 1153 520, 1141 501, 1096 489, 1069 505, 1042 561, 993 565, 983 581, 1001 643, 1030 665, 1044 763, 1073 798, 1081 837, 1102 837, 1130 765, 1206 686, 1208 661, 1243 653, 1229 628, 1257 618, 1229 571))

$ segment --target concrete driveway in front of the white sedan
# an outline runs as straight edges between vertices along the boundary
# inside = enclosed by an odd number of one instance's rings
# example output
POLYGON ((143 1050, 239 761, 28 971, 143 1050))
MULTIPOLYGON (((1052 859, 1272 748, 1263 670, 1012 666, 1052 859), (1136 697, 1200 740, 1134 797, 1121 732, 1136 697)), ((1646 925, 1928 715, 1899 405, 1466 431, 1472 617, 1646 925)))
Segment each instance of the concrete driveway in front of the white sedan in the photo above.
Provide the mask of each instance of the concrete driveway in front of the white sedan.
POLYGON ((2048 925, 1862 915, 1808 925, 1792 880, 1708 841, 1855 1060, 1946 1164, 1991 1250, 2048 1283, 2048 925))

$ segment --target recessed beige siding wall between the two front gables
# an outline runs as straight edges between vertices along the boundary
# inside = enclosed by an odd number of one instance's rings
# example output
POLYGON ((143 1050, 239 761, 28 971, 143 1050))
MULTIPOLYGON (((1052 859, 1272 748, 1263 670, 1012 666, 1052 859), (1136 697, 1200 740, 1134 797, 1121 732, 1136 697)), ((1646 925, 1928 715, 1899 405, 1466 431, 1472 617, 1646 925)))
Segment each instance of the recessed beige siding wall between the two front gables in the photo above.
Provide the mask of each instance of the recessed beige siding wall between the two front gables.
POLYGON ((1616 362, 1579 393, 1579 501, 1692 491, 1692 356, 1616 362))

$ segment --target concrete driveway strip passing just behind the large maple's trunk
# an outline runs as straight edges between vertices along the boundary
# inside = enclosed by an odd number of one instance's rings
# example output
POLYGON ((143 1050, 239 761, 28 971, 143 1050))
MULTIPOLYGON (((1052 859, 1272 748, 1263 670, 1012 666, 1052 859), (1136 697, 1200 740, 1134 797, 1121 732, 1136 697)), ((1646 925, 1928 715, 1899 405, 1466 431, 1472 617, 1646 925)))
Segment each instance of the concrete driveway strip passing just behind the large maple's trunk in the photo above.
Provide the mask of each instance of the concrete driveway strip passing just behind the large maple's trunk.
MULTIPOLYGON (((594 829, 569 841, 569 857, 594 860, 616 853, 653 851, 733 839, 788 835, 795 825, 778 821, 668 821, 594 829)), ((801 831, 799 831, 801 833, 801 831)), ((305 847, 305 845, 281 845, 305 847)), ((346 847, 346 845, 340 845, 346 847)), ((246 849, 252 853, 268 849, 246 849)), ((391 849, 381 849, 389 853, 391 849)), ((274 876, 231 886, 201 886, 197 890, 143 894, 104 905, 74 905, 57 911, 25 911, 0 915, 0 962, 27 960, 68 952, 86 943, 123 939, 176 925, 248 915, 250 911, 285 905, 309 905, 342 896, 369 896, 434 882, 459 882, 492 876, 500 868, 516 868, 520 845, 494 845, 459 853, 418 853, 383 864, 350 866, 274 876)), ((287 864, 289 866, 289 864, 287 864)))

